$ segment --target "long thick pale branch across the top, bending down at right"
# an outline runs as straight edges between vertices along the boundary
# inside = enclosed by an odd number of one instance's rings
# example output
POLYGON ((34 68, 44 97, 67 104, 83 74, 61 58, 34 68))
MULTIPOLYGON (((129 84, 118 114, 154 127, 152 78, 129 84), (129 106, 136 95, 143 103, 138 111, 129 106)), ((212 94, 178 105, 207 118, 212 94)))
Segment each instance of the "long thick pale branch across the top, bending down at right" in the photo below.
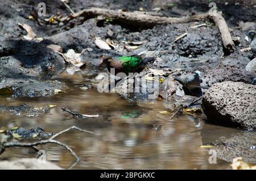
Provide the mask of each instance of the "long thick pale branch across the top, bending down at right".
MULTIPOLYGON (((148 14, 138 13, 138 12, 126 12, 126 11, 116 11, 92 7, 90 9, 84 9, 76 12, 73 15, 61 18, 61 22, 68 22, 69 20, 84 17, 84 18, 95 18, 97 16, 104 16, 105 18, 115 19, 123 24, 131 24, 133 26, 137 25, 141 27, 152 27, 156 24, 177 24, 177 23, 188 23, 193 21, 199 21, 203 19, 211 18, 218 29, 220 30, 221 39, 224 47, 225 54, 230 54, 234 52, 234 42, 232 36, 230 35, 228 25, 225 19, 221 15, 221 12, 216 12, 213 14, 204 13, 200 15, 183 16, 180 18, 174 17, 163 17, 163 16, 152 16, 148 14)), ((177 40, 176 40, 177 41, 177 40)))

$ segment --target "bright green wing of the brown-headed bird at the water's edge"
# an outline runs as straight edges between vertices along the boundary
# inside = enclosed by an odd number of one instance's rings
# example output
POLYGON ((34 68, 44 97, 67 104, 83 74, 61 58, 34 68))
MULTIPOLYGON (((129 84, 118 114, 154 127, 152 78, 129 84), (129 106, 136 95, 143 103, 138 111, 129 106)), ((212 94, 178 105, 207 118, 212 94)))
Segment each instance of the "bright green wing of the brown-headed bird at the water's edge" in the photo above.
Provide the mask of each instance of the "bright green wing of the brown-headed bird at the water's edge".
POLYGON ((123 70, 127 73, 133 72, 142 62, 143 58, 141 56, 123 56, 117 58, 122 62, 123 70))

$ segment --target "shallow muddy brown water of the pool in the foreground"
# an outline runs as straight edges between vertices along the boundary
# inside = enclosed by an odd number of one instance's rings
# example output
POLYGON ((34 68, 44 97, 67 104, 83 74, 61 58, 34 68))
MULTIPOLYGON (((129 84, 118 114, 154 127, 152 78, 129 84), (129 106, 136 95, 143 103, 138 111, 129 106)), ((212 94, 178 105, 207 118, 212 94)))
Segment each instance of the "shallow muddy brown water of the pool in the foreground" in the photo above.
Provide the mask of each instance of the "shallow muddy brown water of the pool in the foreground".
MULTIPOLYGON (((204 144, 202 140, 214 140, 223 136, 223 132, 232 134, 240 130, 206 124, 200 115, 170 119, 172 114, 159 113, 167 111, 161 101, 129 102, 117 94, 81 90, 78 86, 87 79, 82 75, 61 75, 58 79, 70 87, 67 92, 33 99, 0 98, 0 104, 6 106, 22 103, 57 105, 38 117, 10 116, 1 112, 0 127, 40 127, 56 133, 76 125, 93 131, 94 135, 70 131, 56 138, 70 145, 80 157, 73 169, 229 169, 230 163, 220 158, 216 164, 210 164, 208 150, 200 146, 204 144), (60 109, 63 106, 83 114, 99 114, 100 117, 74 119, 60 109), (125 118, 129 113, 134 117, 125 118), (201 134, 203 130, 207 136, 201 134)), ((0 134, 0 138, 3 137, 0 134)), ((61 146, 47 144, 37 148, 46 150, 47 160, 65 169, 74 161, 61 146)), ((31 148, 9 148, 0 155, 0 160, 35 158, 36 155, 31 148)))

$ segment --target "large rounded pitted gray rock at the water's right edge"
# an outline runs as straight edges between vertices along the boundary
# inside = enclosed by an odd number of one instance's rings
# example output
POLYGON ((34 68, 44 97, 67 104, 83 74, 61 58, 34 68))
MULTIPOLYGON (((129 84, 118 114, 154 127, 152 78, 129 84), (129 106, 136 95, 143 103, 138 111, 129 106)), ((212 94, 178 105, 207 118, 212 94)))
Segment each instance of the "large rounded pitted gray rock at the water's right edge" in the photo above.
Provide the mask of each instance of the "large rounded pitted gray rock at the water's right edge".
POLYGON ((227 81, 210 87, 201 106, 208 121, 256 128, 255 98, 254 85, 227 81))

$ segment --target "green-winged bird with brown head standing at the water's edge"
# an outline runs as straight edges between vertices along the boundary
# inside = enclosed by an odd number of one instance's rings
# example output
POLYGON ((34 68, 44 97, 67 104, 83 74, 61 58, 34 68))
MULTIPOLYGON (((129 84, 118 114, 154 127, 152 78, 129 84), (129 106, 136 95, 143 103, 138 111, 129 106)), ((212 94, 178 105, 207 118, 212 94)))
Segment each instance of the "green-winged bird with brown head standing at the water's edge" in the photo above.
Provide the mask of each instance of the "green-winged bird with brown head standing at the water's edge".
POLYGON ((148 63, 154 61, 154 57, 146 58, 146 54, 122 56, 118 57, 116 60, 109 56, 100 57, 100 65, 106 64, 108 71, 114 75, 117 75, 118 73, 125 73, 126 75, 135 72, 140 73, 148 63), (112 68, 115 70, 115 73, 110 70, 112 68))

